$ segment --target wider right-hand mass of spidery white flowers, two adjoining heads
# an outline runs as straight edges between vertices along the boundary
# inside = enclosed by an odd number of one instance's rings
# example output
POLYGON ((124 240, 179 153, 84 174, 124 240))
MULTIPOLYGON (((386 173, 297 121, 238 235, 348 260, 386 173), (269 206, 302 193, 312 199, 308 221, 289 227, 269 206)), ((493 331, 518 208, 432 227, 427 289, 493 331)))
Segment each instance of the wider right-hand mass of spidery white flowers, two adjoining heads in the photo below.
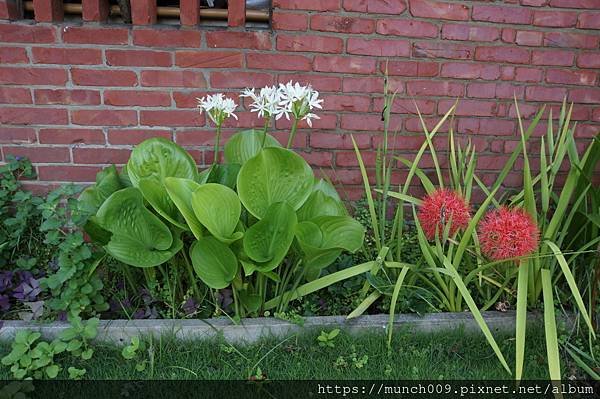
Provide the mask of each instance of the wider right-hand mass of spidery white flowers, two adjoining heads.
POLYGON ((319 92, 310 85, 301 86, 298 82, 292 84, 279 84, 277 86, 267 86, 255 93, 255 89, 244 90, 241 97, 252 99, 250 110, 258 112, 260 118, 274 117, 276 120, 285 116, 290 119, 290 114, 297 120, 305 120, 312 127, 311 119, 319 117, 311 111, 315 108, 322 108, 323 100, 319 99, 319 92))

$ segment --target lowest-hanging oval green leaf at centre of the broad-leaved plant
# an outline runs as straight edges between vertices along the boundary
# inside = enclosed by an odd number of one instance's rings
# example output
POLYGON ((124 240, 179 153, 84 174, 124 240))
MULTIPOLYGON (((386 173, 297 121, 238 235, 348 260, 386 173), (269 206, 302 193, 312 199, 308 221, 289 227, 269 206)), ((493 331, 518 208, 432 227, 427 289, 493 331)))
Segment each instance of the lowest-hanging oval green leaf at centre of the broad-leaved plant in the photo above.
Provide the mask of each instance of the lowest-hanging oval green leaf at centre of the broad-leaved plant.
POLYGON ((196 241, 190 248, 190 258, 198 277, 214 289, 227 287, 238 270, 235 254, 214 237, 196 241))

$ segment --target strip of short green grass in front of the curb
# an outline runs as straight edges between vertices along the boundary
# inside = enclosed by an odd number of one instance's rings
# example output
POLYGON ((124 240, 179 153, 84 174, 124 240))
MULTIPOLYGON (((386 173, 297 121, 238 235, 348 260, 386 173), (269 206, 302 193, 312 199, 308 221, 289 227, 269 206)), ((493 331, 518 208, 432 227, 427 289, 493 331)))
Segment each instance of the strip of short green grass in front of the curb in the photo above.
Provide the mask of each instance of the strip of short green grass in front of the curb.
MULTIPOLYGON (((527 334, 526 379, 546 379, 546 349, 543 331, 527 334)), ((398 331, 388 353, 383 334, 350 336, 342 331, 334 347, 318 345, 319 331, 266 339, 252 345, 229 345, 224 341, 185 342, 173 339, 147 342, 136 360, 125 360, 121 350, 95 346, 87 362, 73 362, 65 356, 59 378, 68 378, 69 366, 87 369, 86 379, 247 379, 262 374, 268 379, 510 379, 482 334, 454 332, 415 334, 398 331), (143 371, 136 363, 145 359, 143 371), (259 370, 260 369, 260 370, 259 370)), ((514 339, 498 335, 497 340, 510 365, 514 364, 514 339)), ((6 344, 0 352, 9 350, 6 344)), ((62 356, 62 355, 61 355, 62 356)), ((563 374, 572 373, 563 362, 563 374)), ((7 367, 0 378, 10 379, 7 367)))

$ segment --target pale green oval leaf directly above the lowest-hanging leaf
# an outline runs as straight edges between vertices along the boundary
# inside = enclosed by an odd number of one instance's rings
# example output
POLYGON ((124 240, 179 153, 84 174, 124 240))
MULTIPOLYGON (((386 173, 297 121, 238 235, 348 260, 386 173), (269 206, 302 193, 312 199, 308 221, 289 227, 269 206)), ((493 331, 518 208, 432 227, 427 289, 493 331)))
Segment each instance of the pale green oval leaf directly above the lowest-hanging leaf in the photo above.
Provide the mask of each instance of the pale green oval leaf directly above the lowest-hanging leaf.
POLYGON ((194 214, 219 241, 229 244, 242 238, 235 232, 242 213, 242 204, 232 189, 222 184, 206 183, 192 194, 194 214))

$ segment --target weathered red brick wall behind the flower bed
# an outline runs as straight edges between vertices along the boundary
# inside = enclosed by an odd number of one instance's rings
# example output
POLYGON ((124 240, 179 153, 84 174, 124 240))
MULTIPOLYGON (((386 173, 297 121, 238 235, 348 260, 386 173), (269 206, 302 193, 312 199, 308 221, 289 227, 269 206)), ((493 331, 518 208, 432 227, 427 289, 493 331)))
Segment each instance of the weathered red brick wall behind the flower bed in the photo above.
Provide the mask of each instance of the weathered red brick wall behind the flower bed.
MULTIPOLYGON (((325 100, 295 146, 355 198, 349 134, 372 167, 386 63, 398 90, 395 147, 408 154, 422 142, 413 98, 435 121, 458 97, 458 131, 492 173, 518 140, 513 93, 527 117, 546 102, 556 111, 567 96, 582 144, 598 132, 599 46, 600 0, 274 0, 272 31, 3 21, 1 151, 30 157, 41 185, 93 181, 156 135, 207 164, 213 130, 196 97, 293 79, 325 100)), ((238 115, 228 133, 260 124, 247 110, 238 115)), ((277 123, 282 139, 287 126, 277 123)), ((508 184, 517 182, 515 173, 508 184)))

